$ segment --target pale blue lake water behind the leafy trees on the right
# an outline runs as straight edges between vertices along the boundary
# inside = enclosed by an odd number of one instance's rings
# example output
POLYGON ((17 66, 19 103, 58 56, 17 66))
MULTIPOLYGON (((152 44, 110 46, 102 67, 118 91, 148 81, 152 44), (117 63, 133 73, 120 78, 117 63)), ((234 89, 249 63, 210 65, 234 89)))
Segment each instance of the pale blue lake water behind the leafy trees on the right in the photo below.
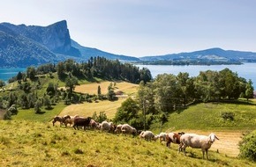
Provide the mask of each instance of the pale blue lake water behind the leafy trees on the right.
POLYGON ((252 80, 254 91, 256 89, 256 63, 244 63, 242 65, 189 65, 189 66, 173 66, 173 65, 136 65, 139 69, 145 67, 150 70, 153 77, 167 73, 176 75, 179 72, 187 72, 189 76, 199 76, 200 71, 215 70, 220 71, 228 68, 233 72, 237 72, 238 76, 244 77, 247 81, 252 80))

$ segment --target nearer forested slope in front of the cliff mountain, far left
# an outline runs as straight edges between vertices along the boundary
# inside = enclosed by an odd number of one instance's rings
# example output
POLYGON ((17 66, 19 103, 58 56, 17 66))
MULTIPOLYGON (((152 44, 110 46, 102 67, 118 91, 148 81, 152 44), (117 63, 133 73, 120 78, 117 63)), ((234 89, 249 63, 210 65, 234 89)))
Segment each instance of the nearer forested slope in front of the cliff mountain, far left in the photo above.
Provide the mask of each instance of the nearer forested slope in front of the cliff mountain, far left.
POLYGON ((27 67, 57 60, 56 54, 33 40, 0 31, 0 67, 27 67))

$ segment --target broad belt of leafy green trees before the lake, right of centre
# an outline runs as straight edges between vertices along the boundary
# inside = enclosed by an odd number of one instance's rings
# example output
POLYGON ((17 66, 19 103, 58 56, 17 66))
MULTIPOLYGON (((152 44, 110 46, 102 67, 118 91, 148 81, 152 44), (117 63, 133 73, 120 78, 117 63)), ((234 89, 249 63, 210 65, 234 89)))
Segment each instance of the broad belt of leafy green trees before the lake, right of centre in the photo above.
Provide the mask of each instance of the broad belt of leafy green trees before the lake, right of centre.
POLYGON ((252 81, 247 82, 230 69, 201 71, 195 77, 188 73, 161 74, 150 82, 141 82, 137 100, 128 99, 129 103, 122 104, 114 120, 147 129, 153 121, 164 123, 169 113, 180 108, 237 98, 253 98, 252 81))

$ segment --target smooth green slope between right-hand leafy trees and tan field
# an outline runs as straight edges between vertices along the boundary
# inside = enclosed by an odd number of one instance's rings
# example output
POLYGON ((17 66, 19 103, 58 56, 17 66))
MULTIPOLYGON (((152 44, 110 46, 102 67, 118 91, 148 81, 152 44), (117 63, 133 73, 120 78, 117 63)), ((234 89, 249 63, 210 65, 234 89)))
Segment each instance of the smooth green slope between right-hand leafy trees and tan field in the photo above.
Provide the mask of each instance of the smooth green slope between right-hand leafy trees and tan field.
MULTIPOLYGON (((198 130, 253 130, 256 127, 256 105, 201 103, 179 109, 169 114, 168 122, 162 129, 175 127, 178 129, 198 130), (234 120, 224 120, 222 113, 234 113, 234 120)), ((159 125, 154 125, 159 128, 159 125)))

